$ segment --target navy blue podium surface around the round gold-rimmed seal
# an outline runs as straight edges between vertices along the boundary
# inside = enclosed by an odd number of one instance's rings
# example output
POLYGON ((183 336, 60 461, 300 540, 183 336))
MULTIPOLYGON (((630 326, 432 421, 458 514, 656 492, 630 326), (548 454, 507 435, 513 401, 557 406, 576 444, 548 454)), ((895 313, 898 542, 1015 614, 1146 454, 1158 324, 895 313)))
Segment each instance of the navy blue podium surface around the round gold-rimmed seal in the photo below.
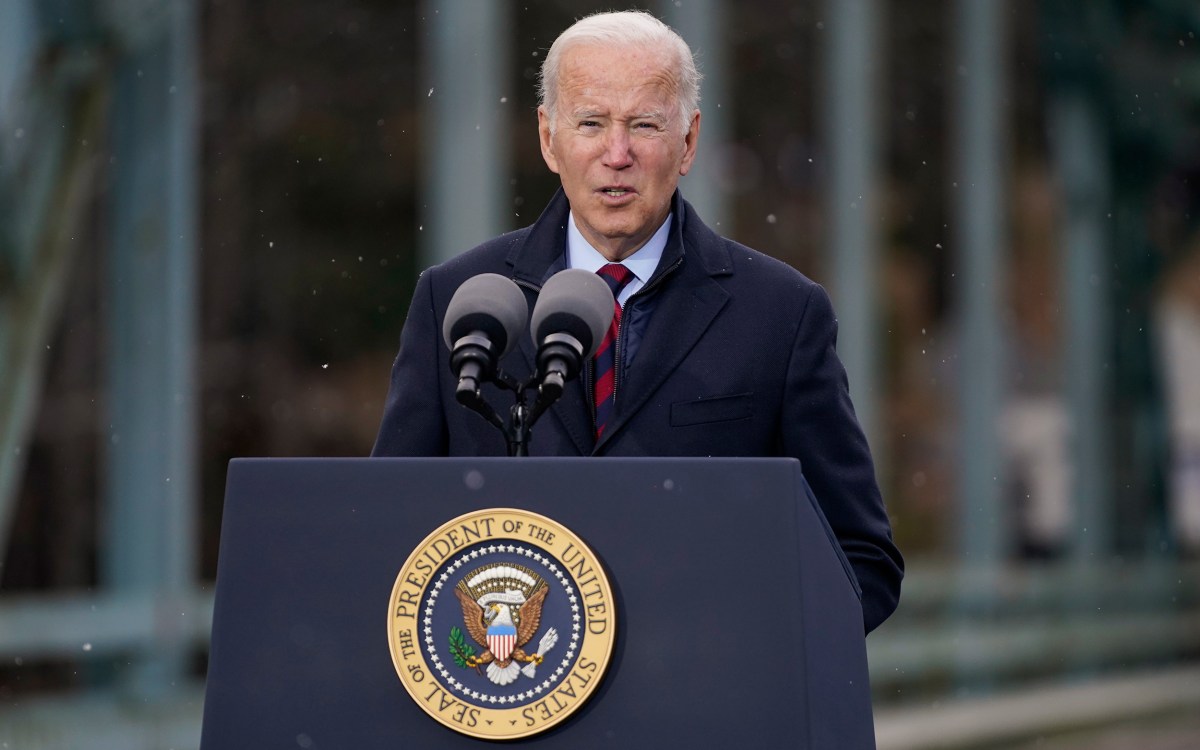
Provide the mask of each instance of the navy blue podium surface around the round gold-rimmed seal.
POLYGON ((874 749, 850 566, 784 458, 254 458, 230 463, 203 750, 479 748, 388 646, 409 553, 486 508, 541 514, 617 602, 598 691, 540 748, 874 749))

